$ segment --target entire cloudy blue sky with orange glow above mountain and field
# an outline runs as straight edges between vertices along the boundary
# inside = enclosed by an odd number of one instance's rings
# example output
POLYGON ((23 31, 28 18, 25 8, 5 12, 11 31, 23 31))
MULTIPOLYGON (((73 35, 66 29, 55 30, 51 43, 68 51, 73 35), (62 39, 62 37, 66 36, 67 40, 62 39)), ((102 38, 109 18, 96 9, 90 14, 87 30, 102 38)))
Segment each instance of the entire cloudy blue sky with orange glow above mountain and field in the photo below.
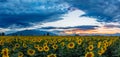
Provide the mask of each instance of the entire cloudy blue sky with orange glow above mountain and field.
POLYGON ((120 33, 120 0, 0 0, 0 32, 120 33))

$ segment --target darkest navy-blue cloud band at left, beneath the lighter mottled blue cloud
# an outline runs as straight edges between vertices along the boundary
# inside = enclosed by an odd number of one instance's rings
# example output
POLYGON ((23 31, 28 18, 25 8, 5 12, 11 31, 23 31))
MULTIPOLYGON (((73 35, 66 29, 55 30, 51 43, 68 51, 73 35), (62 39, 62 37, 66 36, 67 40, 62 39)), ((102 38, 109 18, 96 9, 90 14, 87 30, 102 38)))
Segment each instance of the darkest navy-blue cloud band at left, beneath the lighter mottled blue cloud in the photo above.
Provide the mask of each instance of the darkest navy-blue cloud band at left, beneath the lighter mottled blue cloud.
MULTIPOLYGON (((31 23, 42 22, 44 20, 50 19, 52 16, 57 16, 56 13, 52 15, 40 15, 40 14, 18 14, 18 15, 0 15, 0 27, 7 28, 11 25, 16 25, 22 27, 32 26, 31 23)), ((59 17, 59 15, 57 16, 59 17)), ((60 18, 54 20, 54 18, 47 21, 56 21, 60 18)))

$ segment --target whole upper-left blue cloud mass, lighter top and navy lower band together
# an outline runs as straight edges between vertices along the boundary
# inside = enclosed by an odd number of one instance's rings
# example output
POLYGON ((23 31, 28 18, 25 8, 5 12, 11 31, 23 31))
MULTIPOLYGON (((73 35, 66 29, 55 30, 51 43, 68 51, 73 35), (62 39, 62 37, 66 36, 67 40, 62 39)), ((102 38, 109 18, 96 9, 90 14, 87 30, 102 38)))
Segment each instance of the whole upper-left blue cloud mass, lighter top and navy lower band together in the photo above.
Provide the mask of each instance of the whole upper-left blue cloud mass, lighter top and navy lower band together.
POLYGON ((28 27, 30 23, 60 20, 67 12, 67 4, 64 6, 58 0, 0 0, 0 27, 28 27))

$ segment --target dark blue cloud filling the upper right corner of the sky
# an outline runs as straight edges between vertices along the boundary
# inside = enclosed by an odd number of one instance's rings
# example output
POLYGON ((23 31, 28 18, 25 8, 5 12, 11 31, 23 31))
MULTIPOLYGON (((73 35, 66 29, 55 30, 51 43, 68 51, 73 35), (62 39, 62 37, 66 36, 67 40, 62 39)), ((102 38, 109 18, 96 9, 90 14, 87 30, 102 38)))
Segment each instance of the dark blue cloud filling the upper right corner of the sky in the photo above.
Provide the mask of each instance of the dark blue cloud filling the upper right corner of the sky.
POLYGON ((120 0, 68 0, 73 7, 86 12, 83 16, 98 18, 99 22, 120 23, 120 0))

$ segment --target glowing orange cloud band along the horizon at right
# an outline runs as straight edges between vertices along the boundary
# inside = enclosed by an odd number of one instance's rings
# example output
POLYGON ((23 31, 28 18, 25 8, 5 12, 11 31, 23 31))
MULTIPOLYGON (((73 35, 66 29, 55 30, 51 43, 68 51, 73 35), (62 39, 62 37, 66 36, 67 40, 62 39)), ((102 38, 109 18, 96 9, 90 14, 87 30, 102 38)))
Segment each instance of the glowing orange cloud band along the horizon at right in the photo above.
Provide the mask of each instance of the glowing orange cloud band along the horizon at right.
POLYGON ((105 28, 100 27, 93 30, 80 30, 80 29, 73 29, 73 30, 66 30, 64 31, 66 34, 115 34, 120 33, 120 28, 105 28))

